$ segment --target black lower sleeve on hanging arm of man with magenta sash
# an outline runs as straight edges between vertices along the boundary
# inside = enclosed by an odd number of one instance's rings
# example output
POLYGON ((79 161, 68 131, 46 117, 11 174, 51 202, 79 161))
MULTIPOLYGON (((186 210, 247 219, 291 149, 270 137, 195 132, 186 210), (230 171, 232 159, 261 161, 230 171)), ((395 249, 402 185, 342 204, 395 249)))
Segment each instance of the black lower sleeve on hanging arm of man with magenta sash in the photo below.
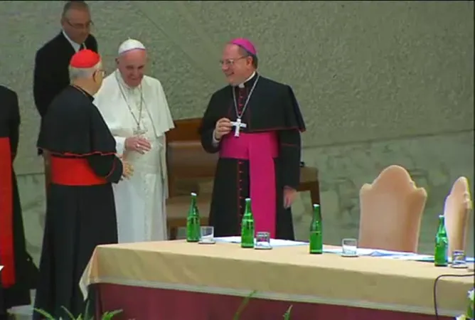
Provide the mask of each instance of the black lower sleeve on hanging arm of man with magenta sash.
POLYGON ((279 149, 282 184, 297 189, 300 184, 301 139, 299 129, 280 130, 279 149))

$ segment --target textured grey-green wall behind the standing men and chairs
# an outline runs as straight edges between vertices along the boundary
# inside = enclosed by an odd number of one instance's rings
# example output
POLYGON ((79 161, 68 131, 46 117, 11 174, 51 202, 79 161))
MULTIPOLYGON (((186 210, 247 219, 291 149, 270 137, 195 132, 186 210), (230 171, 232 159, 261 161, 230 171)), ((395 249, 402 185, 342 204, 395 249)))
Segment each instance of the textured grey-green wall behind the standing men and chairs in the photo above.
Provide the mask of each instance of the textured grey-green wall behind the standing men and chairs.
MULTIPOLYGON (((0 82, 21 100, 16 170, 36 251, 44 208, 34 148, 39 118, 31 93, 33 58, 58 32, 62 5, 2 1, 0 10, 0 82)), ((200 116, 210 94, 223 85, 218 65, 223 43, 252 38, 261 73, 292 85, 301 103, 308 127, 304 160, 321 169, 323 210, 335 218, 328 240, 356 232, 358 188, 386 165, 407 166, 428 189, 427 250, 452 182, 465 175, 473 186, 471 1, 90 1, 90 6, 107 69, 114 68, 119 43, 128 37, 144 42, 149 73, 164 84, 176 119, 200 116)), ((296 229, 305 237, 306 196, 302 201, 296 204, 296 229)))

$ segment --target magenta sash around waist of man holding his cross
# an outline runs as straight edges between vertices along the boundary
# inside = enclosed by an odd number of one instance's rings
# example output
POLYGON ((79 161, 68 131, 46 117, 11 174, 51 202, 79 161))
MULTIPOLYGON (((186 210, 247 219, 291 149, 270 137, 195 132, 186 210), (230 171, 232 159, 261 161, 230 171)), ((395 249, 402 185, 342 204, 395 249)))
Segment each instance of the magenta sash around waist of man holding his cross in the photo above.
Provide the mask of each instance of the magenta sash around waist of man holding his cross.
MULTIPOLYGON (((221 141, 220 157, 249 160, 250 198, 255 231, 276 233, 276 186, 274 158, 279 149, 276 132, 226 134, 221 141)), ((239 199, 240 201, 240 199, 239 199)))

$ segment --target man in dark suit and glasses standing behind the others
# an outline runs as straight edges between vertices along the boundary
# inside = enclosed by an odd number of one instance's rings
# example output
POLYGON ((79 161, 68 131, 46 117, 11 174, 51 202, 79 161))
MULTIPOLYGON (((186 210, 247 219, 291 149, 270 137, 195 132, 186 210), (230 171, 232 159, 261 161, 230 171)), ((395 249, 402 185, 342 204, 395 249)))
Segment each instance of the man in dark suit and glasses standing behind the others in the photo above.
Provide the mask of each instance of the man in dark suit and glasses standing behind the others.
MULTIPOLYGON (((87 48, 97 52, 97 41, 90 34, 92 20, 85 1, 67 1, 61 16, 63 30, 36 52, 33 96, 41 119, 48 105, 70 83, 68 65, 73 55, 87 48)), ((41 154, 41 151, 38 151, 41 154)), ((45 161, 46 187, 49 184, 49 157, 45 161)))

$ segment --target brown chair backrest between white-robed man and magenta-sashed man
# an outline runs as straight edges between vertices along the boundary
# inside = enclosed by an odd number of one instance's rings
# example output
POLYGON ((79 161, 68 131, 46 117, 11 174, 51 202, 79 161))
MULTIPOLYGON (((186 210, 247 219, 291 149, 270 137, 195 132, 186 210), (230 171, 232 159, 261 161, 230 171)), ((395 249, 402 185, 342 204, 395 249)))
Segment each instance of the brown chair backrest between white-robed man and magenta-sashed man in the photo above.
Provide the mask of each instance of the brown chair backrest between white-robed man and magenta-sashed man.
POLYGON ((175 120, 174 124, 166 133, 170 198, 178 195, 179 183, 188 183, 187 192, 198 191, 200 181, 213 179, 218 162, 218 154, 208 154, 201 146, 201 118, 175 120))

